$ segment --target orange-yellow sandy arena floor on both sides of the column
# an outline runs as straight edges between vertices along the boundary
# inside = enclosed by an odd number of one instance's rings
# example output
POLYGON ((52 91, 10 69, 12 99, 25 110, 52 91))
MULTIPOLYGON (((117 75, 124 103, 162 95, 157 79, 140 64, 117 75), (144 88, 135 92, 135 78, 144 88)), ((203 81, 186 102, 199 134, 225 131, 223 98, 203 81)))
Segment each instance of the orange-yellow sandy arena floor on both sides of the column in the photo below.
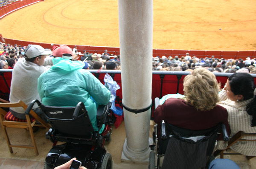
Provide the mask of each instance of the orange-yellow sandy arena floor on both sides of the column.
MULTIPOLYGON (((154 0, 154 49, 256 49, 255 0, 154 0)), ((0 20, 11 39, 119 46, 118 0, 45 0, 0 20)))

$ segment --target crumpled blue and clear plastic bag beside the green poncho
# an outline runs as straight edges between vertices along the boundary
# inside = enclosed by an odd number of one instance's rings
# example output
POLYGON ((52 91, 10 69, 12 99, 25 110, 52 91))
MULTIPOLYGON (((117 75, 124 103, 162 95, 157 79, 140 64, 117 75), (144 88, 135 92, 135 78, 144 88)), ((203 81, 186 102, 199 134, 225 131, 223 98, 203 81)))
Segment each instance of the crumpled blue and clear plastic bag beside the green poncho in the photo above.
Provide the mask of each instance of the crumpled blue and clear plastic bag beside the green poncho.
POLYGON ((111 92, 111 99, 110 101, 112 102, 111 105, 111 110, 113 110, 113 112, 117 115, 122 115, 122 109, 117 110, 116 106, 115 106, 115 101, 116 101, 116 90, 120 89, 120 86, 117 85, 116 81, 113 81, 112 77, 106 73, 105 77, 104 77, 104 82, 105 82, 105 87, 108 88, 108 90, 110 90, 111 92))

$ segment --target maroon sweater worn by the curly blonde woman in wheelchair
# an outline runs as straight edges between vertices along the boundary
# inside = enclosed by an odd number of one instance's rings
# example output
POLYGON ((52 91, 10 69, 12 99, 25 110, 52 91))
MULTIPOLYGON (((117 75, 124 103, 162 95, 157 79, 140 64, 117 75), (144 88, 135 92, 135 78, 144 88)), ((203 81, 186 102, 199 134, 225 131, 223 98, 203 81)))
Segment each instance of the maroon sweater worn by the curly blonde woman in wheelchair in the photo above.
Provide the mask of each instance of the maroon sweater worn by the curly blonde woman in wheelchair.
MULTIPOLYGON (((200 111, 183 99, 175 98, 167 99, 154 111, 154 121, 157 123, 158 135, 160 135, 162 120, 174 126, 190 130, 209 129, 222 122, 226 125, 227 133, 230 135, 231 131, 227 116, 227 110, 219 105, 216 105, 211 110, 200 111)), ((218 137, 218 140, 222 140, 222 135, 218 137)))

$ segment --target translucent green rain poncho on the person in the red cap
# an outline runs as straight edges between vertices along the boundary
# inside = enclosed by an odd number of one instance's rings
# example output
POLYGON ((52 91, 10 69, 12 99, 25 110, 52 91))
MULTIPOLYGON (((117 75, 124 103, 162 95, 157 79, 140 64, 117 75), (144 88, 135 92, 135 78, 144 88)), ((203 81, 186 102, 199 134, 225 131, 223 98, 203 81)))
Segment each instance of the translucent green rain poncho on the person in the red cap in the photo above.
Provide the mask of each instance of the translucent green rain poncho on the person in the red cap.
POLYGON ((38 78, 42 103, 47 106, 76 106, 82 101, 94 130, 98 130, 96 103, 108 104, 110 91, 92 73, 82 69, 83 62, 60 57, 52 59, 52 62, 53 66, 38 78))

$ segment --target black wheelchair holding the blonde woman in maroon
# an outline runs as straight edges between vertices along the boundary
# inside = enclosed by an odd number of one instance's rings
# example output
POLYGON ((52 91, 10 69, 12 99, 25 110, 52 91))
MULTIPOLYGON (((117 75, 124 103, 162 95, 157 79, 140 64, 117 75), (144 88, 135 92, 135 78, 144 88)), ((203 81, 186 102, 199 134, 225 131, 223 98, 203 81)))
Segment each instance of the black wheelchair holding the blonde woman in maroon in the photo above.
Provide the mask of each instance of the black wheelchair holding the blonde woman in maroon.
MULTIPOLYGON (((155 108, 158 105, 159 98, 156 98, 155 108)), ((214 159, 212 154, 221 130, 224 141, 229 141, 226 126, 222 123, 207 130, 194 131, 173 126, 163 120, 160 135, 157 135, 157 124, 155 124, 154 144, 150 145, 152 151, 149 154, 149 169, 207 168, 214 159), (155 164, 156 156, 157 164, 155 164)))

